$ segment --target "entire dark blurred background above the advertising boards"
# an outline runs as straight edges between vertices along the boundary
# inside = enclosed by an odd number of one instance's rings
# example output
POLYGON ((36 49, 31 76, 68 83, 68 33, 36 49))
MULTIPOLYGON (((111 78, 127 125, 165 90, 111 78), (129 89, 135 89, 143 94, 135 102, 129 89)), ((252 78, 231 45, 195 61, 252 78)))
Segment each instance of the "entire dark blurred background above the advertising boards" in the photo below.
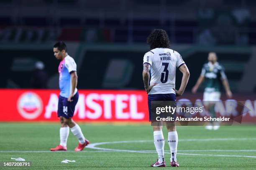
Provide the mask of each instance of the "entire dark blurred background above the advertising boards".
POLYGON ((0 87, 58 88, 52 46, 61 40, 79 88, 143 89, 146 37, 162 28, 189 67, 188 90, 214 51, 233 92, 256 92, 255 9, 254 0, 1 0, 0 87))

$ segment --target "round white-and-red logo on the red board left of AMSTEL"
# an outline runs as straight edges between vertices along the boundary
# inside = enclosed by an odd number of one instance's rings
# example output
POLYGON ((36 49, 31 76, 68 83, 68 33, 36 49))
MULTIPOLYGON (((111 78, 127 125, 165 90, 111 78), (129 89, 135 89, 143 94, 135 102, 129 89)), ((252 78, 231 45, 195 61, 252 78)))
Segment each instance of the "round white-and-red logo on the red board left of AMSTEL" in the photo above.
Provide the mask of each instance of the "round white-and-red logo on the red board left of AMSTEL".
POLYGON ((36 119, 43 110, 43 102, 34 92, 24 92, 17 101, 17 109, 20 115, 26 119, 36 119))

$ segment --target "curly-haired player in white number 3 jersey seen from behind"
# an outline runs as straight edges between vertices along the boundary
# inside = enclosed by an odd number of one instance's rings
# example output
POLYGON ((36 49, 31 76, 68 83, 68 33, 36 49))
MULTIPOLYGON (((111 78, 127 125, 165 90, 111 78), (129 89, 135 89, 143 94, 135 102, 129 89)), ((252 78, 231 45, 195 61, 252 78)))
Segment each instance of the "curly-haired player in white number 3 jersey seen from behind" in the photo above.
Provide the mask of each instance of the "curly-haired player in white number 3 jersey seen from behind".
MULTIPOLYGON (((143 58, 143 82, 148 93, 149 120, 151 120, 152 101, 176 101, 176 96, 181 96, 189 80, 189 70, 178 52, 169 49, 170 42, 165 30, 156 29, 147 38, 150 51, 143 58), (182 82, 179 90, 175 90, 176 67, 182 72, 182 82)), ((151 167, 165 167, 164 160, 164 135, 161 122, 153 125, 154 144, 158 154, 156 163, 151 167)), ((175 122, 166 124, 168 130, 168 144, 171 151, 170 164, 178 167, 176 153, 178 134, 175 122)))

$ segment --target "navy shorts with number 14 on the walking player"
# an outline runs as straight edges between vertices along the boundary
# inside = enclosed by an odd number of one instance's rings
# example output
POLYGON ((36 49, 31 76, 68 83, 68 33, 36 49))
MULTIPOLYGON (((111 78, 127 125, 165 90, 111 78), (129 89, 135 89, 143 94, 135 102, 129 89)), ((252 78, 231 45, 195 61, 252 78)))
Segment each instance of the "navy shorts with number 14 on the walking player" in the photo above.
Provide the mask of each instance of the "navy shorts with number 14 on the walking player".
POLYGON ((72 102, 67 101, 66 97, 59 95, 58 102, 58 117, 63 116, 65 118, 71 118, 74 115, 74 109, 76 107, 79 98, 78 92, 71 98, 72 102))

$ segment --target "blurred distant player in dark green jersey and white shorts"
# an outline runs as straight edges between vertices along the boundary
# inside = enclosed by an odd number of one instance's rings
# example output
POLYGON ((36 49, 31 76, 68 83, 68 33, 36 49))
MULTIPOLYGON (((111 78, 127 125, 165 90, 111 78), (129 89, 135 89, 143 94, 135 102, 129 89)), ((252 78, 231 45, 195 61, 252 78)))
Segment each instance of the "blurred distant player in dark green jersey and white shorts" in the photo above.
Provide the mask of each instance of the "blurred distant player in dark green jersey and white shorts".
MULTIPOLYGON (((209 52, 208 63, 202 67, 201 75, 199 76, 192 92, 196 93, 198 87, 205 81, 205 91, 203 101, 205 109, 209 111, 211 117, 216 117, 215 102, 220 100, 220 82, 225 87, 228 98, 232 97, 232 92, 228 85, 228 79, 224 72, 224 67, 217 62, 218 58, 215 52, 209 52)), ((205 128, 207 130, 218 130, 220 122, 209 122, 205 128)))

